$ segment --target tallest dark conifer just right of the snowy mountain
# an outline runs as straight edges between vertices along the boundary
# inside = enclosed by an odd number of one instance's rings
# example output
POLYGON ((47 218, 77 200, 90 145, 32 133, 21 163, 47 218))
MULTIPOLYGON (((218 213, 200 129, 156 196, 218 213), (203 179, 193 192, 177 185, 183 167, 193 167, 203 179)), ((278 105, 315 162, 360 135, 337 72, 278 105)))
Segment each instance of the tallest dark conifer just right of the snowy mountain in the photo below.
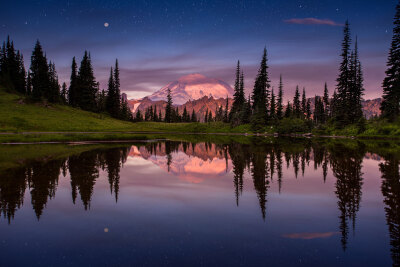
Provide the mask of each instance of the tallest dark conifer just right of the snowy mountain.
POLYGON ((264 48, 263 57, 260 63, 260 68, 254 83, 253 93, 252 93, 252 128, 255 131, 259 131, 263 128, 267 122, 267 97, 268 88, 270 87, 268 77, 268 65, 267 65, 267 49, 264 48))

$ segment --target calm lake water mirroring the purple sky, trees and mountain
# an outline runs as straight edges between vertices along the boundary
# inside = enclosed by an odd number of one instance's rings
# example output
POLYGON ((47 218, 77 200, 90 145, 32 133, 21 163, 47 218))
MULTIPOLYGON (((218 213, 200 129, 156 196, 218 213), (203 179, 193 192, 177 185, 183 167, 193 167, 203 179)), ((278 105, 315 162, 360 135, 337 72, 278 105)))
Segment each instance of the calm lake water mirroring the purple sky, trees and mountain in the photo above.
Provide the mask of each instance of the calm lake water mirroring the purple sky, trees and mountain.
POLYGON ((400 266, 398 153, 346 142, 46 145, 0 172, 0 265, 400 266))

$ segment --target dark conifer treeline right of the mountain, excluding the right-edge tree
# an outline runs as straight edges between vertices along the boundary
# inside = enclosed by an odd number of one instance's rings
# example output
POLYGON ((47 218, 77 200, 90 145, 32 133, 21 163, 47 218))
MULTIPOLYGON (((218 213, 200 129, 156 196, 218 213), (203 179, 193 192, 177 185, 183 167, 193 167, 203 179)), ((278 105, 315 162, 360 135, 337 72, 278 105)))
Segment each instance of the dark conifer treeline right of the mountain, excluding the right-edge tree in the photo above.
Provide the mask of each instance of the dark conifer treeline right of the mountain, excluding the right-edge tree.
POLYGON ((283 81, 279 81, 278 96, 271 84, 268 73, 267 50, 264 48, 258 74, 250 99, 244 97, 243 71, 240 63, 237 64, 235 93, 229 120, 233 125, 250 122, 254 131, 262 131, 266 126, 278 125, 283 119, 299 119, 311 128, 327 122, 337 127, 344 127, 353 123, 363 122, 362 96, 363 73, 358 55, 358 44, 355 42, 354 50, 350 51, 351 36, 349 23, 344 27, 344 40, 342 43, 342 63, 337 79, 337 92, 329 97, 328 87, 325 83, 323 97, 315 96, 314 113, 311 111, 311 99, 306 97, 303 88, 300 94, 296 87, 292 103, 288 102, 284 111, 283 107, 283 81), (249 108, 248 108, 249 107, 249 108))

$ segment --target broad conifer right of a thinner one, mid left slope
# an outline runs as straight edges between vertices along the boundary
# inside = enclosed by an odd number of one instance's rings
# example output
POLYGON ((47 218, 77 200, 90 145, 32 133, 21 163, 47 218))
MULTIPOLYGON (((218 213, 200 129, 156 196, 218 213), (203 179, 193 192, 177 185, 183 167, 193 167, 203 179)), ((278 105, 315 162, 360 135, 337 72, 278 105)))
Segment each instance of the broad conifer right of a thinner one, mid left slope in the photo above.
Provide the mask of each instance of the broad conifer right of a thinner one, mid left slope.
POLYGON ((83 110, 96 111, 96 95, 98 87, 93 74, 90 55, 83 55, 77 77, 78 106, 83 110))

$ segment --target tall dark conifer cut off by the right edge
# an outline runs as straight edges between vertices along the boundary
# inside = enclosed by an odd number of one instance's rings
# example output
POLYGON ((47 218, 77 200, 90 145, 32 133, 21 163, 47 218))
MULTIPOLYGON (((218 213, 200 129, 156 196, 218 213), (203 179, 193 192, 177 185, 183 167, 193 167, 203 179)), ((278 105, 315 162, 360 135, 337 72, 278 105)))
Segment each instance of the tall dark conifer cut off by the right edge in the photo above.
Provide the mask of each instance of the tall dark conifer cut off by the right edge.
POLYGON ((400 2, 396 6, 387 67, 381 111, 384 118, 394 121, 400 115, 400 2))

